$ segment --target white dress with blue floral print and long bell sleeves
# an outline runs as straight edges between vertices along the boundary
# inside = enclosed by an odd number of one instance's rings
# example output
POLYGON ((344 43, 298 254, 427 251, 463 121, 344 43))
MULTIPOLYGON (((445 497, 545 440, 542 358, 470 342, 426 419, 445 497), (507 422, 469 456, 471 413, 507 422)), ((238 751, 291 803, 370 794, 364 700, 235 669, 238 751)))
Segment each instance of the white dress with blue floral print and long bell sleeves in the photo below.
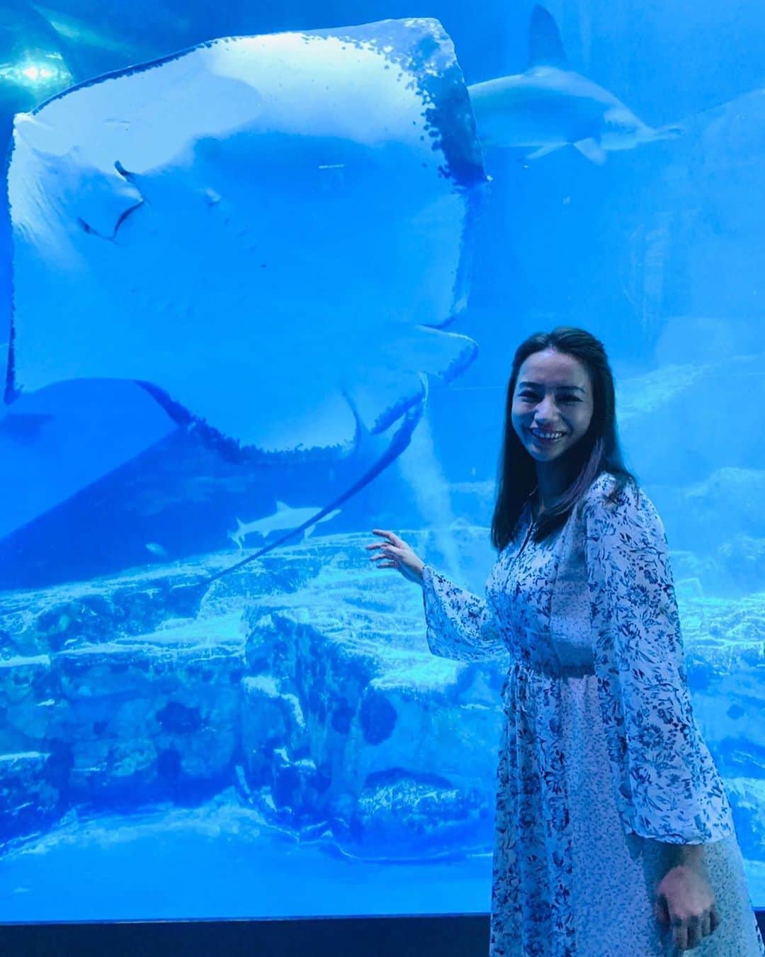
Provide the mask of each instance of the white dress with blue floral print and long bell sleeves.
MULTIPOLYGON (((502 689, 492 957, 677 952, 654 912, 666 843, 704 844, 721 923, 698 957, 762 957, 731 807, 695 723, 665 529, 602 473, 565 525, 527 502, 486 598, 423 572, 431 652, 510 653, 502 689)), ((690 952, 690 951, 688 951, 690 952)))

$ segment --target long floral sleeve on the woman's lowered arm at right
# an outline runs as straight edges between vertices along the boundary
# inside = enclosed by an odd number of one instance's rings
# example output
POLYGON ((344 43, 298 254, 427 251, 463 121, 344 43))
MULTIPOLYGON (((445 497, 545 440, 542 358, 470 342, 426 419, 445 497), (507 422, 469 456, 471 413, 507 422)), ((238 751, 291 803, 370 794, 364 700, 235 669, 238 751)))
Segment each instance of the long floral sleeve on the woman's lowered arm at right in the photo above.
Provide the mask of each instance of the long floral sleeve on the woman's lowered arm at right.
POLYGON ((643 490, 627 484, 611 504, 600 479, 583 515, 598 695, 624 829, 678 844, 731 835, 731 806, 691 707, 664 525, 643 490))

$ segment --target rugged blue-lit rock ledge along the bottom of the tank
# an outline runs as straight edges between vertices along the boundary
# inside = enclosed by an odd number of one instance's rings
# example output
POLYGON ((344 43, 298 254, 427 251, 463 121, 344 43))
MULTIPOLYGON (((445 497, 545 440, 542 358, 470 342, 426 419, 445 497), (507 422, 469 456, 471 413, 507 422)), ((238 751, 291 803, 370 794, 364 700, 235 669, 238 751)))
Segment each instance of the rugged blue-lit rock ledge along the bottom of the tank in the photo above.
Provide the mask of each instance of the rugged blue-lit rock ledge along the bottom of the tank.
MULTIPOLYGON (((403 534, 446 562, 437 531, 403 534)), ((459 535, 463 566, 440 567, 479 589, 488 529, 459 535)), ((2 841, 73 809, 227 791, 339 854, 490 848, 503 662, 432 656, 420 589, 370 565, 368 541, 312 538, 208 587, 230 554, 6 592, 2 841)), ((761 857, 765 593, 723 601, 676 577, 697 718, 744 853, 761 857)))

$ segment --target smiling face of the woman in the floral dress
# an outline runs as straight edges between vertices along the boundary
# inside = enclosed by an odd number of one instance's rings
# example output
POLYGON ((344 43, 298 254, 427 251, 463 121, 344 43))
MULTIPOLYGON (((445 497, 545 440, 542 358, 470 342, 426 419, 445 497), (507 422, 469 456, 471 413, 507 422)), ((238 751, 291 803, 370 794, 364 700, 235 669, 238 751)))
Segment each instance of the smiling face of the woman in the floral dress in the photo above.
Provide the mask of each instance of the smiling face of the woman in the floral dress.
POLYGON ((537 462, 564 456, 587 432, 593 398, 587 370, 554 349, 535 352, 518 371, 513 428, 537 462), (539 433, 554 433, 545 438, 539 433))

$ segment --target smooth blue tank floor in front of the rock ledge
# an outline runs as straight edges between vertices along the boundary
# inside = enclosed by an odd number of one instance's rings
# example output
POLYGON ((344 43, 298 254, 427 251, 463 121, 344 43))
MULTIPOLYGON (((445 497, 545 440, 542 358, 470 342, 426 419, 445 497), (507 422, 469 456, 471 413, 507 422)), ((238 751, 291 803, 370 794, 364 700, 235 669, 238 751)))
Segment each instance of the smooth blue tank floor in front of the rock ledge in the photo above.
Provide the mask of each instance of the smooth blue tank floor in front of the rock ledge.
POLYGON ((223 809, 103 817, 3 863, 3 923, 486 913, 491 858, 339 860, 223 809), (76 874, 76 880, 67 876, 76 874), (189 881, 189 874, 195 877, 189 881))

